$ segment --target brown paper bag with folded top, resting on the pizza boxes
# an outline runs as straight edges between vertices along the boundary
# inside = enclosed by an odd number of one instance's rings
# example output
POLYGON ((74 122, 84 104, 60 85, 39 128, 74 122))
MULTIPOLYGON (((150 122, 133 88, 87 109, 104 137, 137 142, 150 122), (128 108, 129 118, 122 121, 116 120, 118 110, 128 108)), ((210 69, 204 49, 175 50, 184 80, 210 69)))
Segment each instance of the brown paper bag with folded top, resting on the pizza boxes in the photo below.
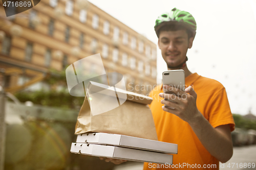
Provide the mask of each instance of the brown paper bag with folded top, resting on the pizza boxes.
MULTIPOLYGON (((93 88, 99 88, 98 84, 91 86, 93 88)), ((92 102, 91 97, 86 96, 77 117, 75 134, 101 132, 158 140, 151 110, 146 105, 152 102, 152 98, 125 90, 118 92, 127 95, 127 100, 120 106, 97 115, 92 114, 89 102, 91 105, 102 104, 104 107, 109 100, 102 101, 98 97, 93 98, 92 102)), ((110 98, 114 99, 115 96, 108 96, 110 98)))

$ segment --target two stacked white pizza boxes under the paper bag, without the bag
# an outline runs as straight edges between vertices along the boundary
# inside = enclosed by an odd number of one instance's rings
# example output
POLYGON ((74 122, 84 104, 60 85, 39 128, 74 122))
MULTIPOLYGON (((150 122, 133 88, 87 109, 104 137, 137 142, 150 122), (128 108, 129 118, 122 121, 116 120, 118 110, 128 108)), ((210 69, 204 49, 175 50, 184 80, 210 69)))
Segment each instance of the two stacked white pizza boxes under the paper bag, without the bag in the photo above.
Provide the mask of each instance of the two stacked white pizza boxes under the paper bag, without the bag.
POLYGON ((71 152, 139 162, 173 164, 173 155, 178 145, 138 137, 109 134, 84 133, 77 135, 71 152))

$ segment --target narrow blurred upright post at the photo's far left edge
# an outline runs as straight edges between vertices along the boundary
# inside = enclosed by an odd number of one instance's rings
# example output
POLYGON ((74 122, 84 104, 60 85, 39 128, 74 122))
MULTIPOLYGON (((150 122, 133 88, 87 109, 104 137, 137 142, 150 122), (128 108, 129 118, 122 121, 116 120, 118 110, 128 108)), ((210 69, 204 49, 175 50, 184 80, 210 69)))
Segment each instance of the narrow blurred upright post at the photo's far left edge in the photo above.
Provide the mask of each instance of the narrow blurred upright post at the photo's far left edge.
POLYGON ((6 125, 5 125, 5 69, 0 68, 0 74, 2 75, 2 90, 0 90, 0 170, 4 170, 5 166, 5 137, 6 137, 6 125))

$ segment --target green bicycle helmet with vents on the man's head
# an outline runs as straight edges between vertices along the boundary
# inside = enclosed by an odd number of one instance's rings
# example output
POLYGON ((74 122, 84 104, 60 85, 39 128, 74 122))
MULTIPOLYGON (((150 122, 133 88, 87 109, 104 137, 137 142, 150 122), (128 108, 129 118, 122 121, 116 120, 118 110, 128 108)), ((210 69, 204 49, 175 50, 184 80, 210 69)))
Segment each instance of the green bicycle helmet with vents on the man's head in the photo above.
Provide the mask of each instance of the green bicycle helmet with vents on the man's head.
POLYGON ((181 11, 177 8, 172 9, 170 12, 165 12, 158 16, 155 25, 157 37, 159 37, 159 30, 166 25, 181 25, 191 32, 191 36, 195 38, 197 23, 195 18, 186 11, 181 11))

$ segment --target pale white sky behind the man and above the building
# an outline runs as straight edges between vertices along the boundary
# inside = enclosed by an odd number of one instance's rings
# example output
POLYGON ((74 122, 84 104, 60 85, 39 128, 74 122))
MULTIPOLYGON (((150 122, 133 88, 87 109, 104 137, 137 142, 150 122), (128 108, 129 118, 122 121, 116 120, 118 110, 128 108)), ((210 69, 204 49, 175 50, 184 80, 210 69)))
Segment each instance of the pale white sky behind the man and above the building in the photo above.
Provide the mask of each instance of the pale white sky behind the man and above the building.
MULTIPOLYGON (((178 8, 197 22, 193 47, 187 52, 191 72, 215 79, 226 88, 232 113, 256 115, 256 0, 89 0, 157 44, 155 20, 178 8)), ((157 80, 167 66, 157 51, 157 80)))

